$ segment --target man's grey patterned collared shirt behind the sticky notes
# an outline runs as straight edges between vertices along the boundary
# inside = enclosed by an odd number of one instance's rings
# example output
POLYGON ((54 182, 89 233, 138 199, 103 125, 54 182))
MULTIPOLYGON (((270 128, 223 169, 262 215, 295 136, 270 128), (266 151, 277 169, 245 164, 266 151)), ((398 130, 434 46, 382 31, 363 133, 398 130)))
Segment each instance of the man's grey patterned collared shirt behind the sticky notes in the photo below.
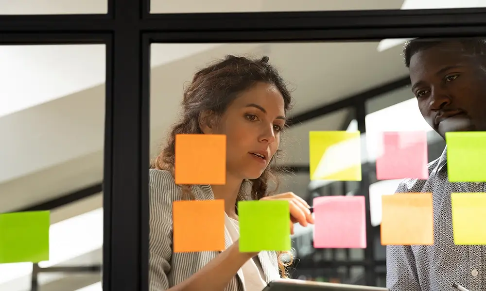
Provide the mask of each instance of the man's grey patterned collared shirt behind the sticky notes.
MULTIPOLYGON (((454 291, 453 283, 470 291, 486 291, 486 246, 454 244, 451 209, 451 193, 486 192, 486 183, 449 182, 446 151, 447 147, 429 164, 429 179, 406 179, 396 191, 432 193, 434 245, 386 247, 386 286, 390 291, 454 291)), ((481 221, 471 223, 486 222, 477 219, 481 221)))

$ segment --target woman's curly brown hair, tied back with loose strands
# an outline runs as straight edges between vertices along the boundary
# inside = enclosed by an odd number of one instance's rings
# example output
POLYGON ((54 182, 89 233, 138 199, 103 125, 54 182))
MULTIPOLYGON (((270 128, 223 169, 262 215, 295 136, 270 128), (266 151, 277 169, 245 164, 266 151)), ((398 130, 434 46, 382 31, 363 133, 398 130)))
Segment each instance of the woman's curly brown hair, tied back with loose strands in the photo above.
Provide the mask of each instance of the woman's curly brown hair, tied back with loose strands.
MULTIPOLYGON (((179 122, 175 123, 170 130, 166 145, 151 167, 169 171, 174 176, 175 136, 177 134, 203 133, 199 127, 200 113, 209 111, 221 116, 236 97, 258 82, 276 86, 283 97, 285 112, 290 110, 292 102, 290 91, 287 89, 277 69, 270 65, 268 60, 268 57, 252 60, 245 57, 227 55, 224 60, 199 70, 194 75, 191 84, 184 91, 182 116, 179 122)), ((259 178, 242 183, 240 187, 242 194, 246 197, 248 196, 244 193, 245 187, 243 187, 243 184, 251 185, 250 197, 253 200, 259 200, 276 192, 277 186, 273 191, 270 191, 269 182, 278 185, 278 170, 271 166, 275 164, 277 156, 278 154, 274 155, 269 166, 259 178)), ((191 185, 180 186, 183 199, 193 199, 191 185)), ((289 252, 278 253, 278 267, 280 275, 284 278, 288 277, 286 268, 292 264, 292 256, 290 256, 290 261, 282 261, 282 256, 285 254, 289 254, 289 252)))

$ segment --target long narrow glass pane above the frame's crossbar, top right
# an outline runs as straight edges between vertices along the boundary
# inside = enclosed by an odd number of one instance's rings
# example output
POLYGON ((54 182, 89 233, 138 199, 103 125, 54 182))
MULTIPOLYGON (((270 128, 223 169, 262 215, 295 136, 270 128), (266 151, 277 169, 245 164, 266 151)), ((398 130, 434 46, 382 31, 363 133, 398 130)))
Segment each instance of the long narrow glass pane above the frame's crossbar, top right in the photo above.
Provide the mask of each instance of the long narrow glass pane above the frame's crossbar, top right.
POLYGON ((277 12, 277 11, 335 11, 383 9, 439 9, 486 7, 482 0, 151 0, 151 13, 208 13, 208 12, 277 12))

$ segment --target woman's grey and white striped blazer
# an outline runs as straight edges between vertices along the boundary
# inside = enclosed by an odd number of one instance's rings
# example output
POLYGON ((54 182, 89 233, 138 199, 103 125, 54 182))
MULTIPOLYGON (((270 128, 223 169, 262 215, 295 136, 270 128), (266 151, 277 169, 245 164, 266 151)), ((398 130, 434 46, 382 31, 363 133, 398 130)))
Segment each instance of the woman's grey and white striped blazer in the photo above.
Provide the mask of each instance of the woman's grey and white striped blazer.
MULTIPOLYGON (((219 251, 174 253, 172 249, 172 202, 181 200, 181 187, 167 171, 150 169, 150 259, 149 290, 164 291, 191 277, 209 261, 218 256, 219 251)), ((195 185, 191 190, 196 200, 214 199, 209 185, 195 185)), ((242 195, 238 200, 243 200, 242 195)), ((231 237, 225 228, 225 248, 231 244, 231 237)), ((260 252, 258 255, 265 281, 280 278, 277 253, 260 252)), ((225 291, 244 291, 240 269, 229 282, 225 291)))

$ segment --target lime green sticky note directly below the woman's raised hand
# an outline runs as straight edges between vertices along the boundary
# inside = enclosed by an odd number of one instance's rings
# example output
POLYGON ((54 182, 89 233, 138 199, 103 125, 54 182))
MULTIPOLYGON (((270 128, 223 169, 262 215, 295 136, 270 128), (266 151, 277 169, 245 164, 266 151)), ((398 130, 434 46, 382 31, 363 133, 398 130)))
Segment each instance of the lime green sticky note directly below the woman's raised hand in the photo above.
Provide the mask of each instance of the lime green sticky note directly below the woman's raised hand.
POLYGON ((291 249, 289 201, 240 201, 238 217, 240 252, 291 249))

